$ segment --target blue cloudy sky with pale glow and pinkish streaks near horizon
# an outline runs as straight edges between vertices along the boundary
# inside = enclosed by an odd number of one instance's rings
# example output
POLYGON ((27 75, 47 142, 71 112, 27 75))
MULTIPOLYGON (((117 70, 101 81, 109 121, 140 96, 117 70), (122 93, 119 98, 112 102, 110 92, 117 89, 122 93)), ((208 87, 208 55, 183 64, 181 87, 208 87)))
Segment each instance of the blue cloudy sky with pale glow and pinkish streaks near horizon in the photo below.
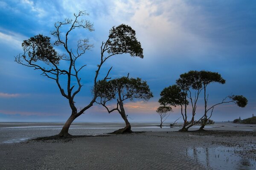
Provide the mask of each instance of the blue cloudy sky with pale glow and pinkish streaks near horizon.
MULTIPOLYGON (((248 99, 245 108, 231 103, 215 107, 214 121, 256 115, 256 1, 0 0, 0 122, 67 120, 71 109, 56 83, 41 76, 40 71, 17 64, 14 59, 23 52, 23 40, 43 34, 53 42, 50 31, 54 30, 55 22, 73 18, 74 13, 84 10, 90 14, 84 19, 94 24, 95 31, 75 29, 69 39, 71 48, 83 38, 94 45, 79 61, 87 66, 80 74, 84 86, 75 99, 78 108, 92 99, 101 43, 108 39, 113 26, 124 23, 136 31, 144 58, 128 54, 114 56, 103 65, 100 76, 113 66, 112 78, 129 73, 130 77, 147 81, 153 98, 148 102, 124 103, 130 122, 160 122, 155 112, 160 92, 190 70, 218 72, 226 80, 224 85, 208 86, 209 105, 231 94, 248 99)), ((56 49, 64 52, 61 47, 56 49)), ((61 81, 64 83, 64 79, 61 81)), ((197 117, 203 114, 202 97, 197 117)), ((109 103, 112 105, 115 103, 109 103)), ((172 122, 180 116, 180 108, 173 107, 166 121, 172 122)), ((119 113, 108 114, 95 103, 75 121, 122 122, 122 118, 119 113)))

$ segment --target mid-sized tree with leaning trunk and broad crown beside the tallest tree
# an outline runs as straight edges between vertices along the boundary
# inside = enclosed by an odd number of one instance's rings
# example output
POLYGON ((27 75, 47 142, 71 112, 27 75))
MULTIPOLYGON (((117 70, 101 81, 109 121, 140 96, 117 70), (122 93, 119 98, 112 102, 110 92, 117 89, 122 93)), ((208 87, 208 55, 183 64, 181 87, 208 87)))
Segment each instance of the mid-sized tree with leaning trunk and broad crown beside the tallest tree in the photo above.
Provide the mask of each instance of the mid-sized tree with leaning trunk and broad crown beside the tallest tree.
POLYGON ((147 82, 142 81, 140 78, 134 79, 121 77, 110 81, 101 80, 97 85, 102 88, 100 88, 98 92, 96 102, 104 106, 108 113, 118 111, 122 116, 122 119, 125 121, 126 126, 114 131, 113 133, 131 133, 131 125, 127 119, 123 102, 127 99, 130 101, 134 101, 134 99, 143 99, 144 101, 148 101, 153 97, 147 82), (113 99, 116 99, 117 101, 116 108, 109 109, 106 104, 113 99))

